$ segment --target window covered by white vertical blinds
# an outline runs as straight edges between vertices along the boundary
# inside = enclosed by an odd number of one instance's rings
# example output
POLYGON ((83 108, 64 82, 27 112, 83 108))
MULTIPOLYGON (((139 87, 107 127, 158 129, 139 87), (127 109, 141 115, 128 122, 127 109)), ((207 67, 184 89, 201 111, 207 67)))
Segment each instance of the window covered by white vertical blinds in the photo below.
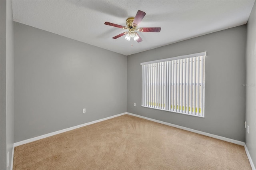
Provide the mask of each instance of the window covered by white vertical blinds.
POLYGON ((204 117, 206 52, 141 63, 142 107, 204 117))

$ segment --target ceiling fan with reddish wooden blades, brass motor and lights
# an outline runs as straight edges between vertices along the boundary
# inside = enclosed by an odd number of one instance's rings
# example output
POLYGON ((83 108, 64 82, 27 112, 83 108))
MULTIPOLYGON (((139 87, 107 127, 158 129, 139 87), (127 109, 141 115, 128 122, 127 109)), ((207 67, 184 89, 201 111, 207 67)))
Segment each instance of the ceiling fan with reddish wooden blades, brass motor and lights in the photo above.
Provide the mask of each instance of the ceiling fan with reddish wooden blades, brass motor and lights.
POLYGON ((161 31, 160 27, 148 27, 148 28, 138 28, 137 29, 137 26, 140 24, 140 22, 142 21, 142 19, 144 18, 145 15, 146 15, 145 12, 138 10, 135 17, 127 18, 127 20, 126 20, 127 27, 121 26, 118 24, 113 24, 111 22, 105 22, 104 24, 108 25, 108 26, 122 28, 124 30, 128 29, 128 31, 118 34, 117 36, 114 36, 113 37, 114 39, 126 35, 125 36, 126 40, 130 41, 132 39, 139 43, 139 42, 142 42, 142 38, 139 36, 138 32, 160 32, 161 31), (138 31, 138 32, 135 32, 135 31, 138 31))

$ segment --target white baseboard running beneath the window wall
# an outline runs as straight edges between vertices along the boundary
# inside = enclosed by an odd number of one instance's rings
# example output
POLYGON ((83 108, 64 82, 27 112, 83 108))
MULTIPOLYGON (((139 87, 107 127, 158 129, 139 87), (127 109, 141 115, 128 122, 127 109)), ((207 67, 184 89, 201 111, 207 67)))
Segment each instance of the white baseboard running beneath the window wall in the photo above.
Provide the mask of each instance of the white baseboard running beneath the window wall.
POLYGON ((244 142, 241 142, 241 141, 239 141, 239 140, 234 140, 234 139, 230 139, 230 138, 225 138, 225 137, 218 136, 218 135, 215 135, 215 134, 210 134, 210 133, 202 132, 202 131, 199 131, 199 130, 194 130, 194 129, 192 129, 192 128, 186 128, 186 127, 182 127, 182 126, 179 126, 179 125, 174 125, 174 124, 172 124, 172 123, 167 123, 167 122, 163 122, 163 121, 158 121, 158 120, 156 120, 156 119, 151 119, 151 118, 148 118, 148 117, 144 117, 144 116, 140 116, 140 115, 135 115, 135 114, 133 114, 133 113, 127 113, 127 114, 128 114, 128 115, 132 115, 132 116, 136 116, 136 117, 140 117, 140 118, 142 118, 142 119, 147 119, 147 120, 149 120, 149 121, 153 121, 153 122, 156 122, 156 123, 161 123, 161 124, 168 125, 168 126, 171 126, 171 127, 180 128, 180 129, 187 130, 187 131, 190 131, 190 132, 202 134, 202 135, 204 135, 204 136, 209 136, 209 137, 212 137, 212 138, 216 138, 216 139, 224 140, 224 141, 226 141, 226 142, 230 142, 230 143, 239 144, 239 145, 244 146, 244 142))

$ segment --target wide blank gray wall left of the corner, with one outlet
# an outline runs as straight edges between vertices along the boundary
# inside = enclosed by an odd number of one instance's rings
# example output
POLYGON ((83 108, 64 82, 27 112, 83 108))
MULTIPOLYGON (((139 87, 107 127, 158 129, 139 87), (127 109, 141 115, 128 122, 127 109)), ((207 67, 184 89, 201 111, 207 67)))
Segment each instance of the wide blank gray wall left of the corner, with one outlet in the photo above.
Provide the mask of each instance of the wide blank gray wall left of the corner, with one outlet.
POLYGON ((14 68, 14 142, 126 112, 125 55, 14 22, 14 68))

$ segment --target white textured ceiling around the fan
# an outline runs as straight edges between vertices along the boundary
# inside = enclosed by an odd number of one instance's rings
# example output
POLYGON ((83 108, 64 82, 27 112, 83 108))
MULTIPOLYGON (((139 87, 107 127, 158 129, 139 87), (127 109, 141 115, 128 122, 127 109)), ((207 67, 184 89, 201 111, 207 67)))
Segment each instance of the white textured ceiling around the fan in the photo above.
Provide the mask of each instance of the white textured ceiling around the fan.
POLYGON ((12 0, 13 20, 61 36, 131 55, 170 43, 246 24, 254 0, 12 0), (142 42, 112 37, 124 30, 138 10, 146 12, 139 27, 142 42))

